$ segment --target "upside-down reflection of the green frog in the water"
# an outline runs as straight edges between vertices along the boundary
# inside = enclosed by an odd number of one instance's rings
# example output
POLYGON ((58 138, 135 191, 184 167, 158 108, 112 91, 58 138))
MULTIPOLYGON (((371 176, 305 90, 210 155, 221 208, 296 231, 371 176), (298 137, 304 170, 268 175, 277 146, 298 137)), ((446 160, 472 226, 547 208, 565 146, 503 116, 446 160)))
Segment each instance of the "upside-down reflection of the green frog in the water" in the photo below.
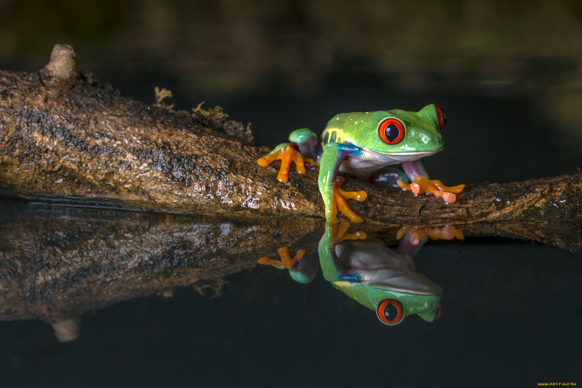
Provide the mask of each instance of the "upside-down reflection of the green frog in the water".
POLYGON ((413 260, 428 237, 413 245, 408 232, 395 252, 379 239, 366 240, 363 232, 346 233, 346 225, 326 223, 318 245, 325 280, 375 311, 385 325, 415 314, 427 322, 438 319, 442 287, 416 272, 413 260))

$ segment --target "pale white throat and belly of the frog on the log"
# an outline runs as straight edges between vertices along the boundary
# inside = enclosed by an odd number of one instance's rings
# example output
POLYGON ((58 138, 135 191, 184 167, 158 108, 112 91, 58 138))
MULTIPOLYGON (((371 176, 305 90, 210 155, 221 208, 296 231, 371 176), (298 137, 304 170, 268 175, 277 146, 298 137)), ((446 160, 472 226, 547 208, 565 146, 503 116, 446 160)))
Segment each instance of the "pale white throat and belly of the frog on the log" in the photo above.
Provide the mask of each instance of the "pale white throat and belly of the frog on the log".
POLYGON ((348 156, 343 160, 339 166, 339 172, 345 172, 356 176, 359 179, 367 179, 372 173, 378 171, 389 165, 396 165, 402 162, 416 161, 436 154, 438 151, 418 151, 418 152, 399 152, 393 155, 379 154, 378 152, 370 152, 365 149, 362 150, 361 155, 348 156))

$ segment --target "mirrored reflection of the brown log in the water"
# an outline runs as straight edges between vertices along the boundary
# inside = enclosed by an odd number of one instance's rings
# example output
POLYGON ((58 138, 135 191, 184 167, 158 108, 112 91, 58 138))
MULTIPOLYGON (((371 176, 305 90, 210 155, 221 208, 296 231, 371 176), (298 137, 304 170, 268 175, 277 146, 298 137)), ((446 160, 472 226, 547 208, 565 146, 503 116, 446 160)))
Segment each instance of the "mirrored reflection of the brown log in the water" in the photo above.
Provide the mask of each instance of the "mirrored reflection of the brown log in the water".
MULTIPOLYGON (((45 207, 0 212, 0 321, 42 319, 63 341, 79 335, 76 317, 130 298, 193 285, 221 293, 221 277, 273 257, 281 245, 317 251, 324 222, 233 222, 168 213, 115 213, 45 207)), ((398 226, 349 223, 342 237, 381 237, 398 244, 398 226), (366 232, 363 232, 364 229, 366 232)), ((463 225, 467 237, 534 239, 576 249, 576 222, 514 221, 463 225)), ((458 229, 458 228, 457 228, 458 229)))

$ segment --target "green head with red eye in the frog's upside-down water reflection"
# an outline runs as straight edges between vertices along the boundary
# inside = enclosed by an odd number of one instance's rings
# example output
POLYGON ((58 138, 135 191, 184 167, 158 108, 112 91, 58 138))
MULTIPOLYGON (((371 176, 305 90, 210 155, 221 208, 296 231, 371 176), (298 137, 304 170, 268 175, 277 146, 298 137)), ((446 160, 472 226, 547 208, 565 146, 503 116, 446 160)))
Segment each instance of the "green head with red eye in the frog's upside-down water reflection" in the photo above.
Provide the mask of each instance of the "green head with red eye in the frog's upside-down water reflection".
POLYGON ((433 322, 441 315, 442 289, 430 280, 428 282, 432 290, 427 290, 423 294, 396 291, 392 287, 379 284, 336 282, 333 286, 365 307, 376 311, 382 323, 398 325, 409 315, 416 314, 427 322, 433 322))

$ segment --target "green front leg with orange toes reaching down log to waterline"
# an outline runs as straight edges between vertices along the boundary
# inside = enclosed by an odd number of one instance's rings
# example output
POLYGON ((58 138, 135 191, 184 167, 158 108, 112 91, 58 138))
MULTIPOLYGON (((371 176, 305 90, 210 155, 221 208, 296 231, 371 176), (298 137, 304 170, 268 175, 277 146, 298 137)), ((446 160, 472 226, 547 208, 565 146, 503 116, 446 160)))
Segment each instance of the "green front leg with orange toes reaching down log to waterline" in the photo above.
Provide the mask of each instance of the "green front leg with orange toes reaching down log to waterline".
POLYGON ((338 209, 352 222, 364 220, 352 211, 347 204, 347 199, 364 201, 367 197, 365 191, 344 191, 341 186, 343 178, 337 179, 339 166, 347 156, 361 152, 359 147, 352 144, 328 143, 324 146, 321 155, 320 176, 318 179, 321 196, 325 204, 325 219, 329 223, 338 223, 338 209))

